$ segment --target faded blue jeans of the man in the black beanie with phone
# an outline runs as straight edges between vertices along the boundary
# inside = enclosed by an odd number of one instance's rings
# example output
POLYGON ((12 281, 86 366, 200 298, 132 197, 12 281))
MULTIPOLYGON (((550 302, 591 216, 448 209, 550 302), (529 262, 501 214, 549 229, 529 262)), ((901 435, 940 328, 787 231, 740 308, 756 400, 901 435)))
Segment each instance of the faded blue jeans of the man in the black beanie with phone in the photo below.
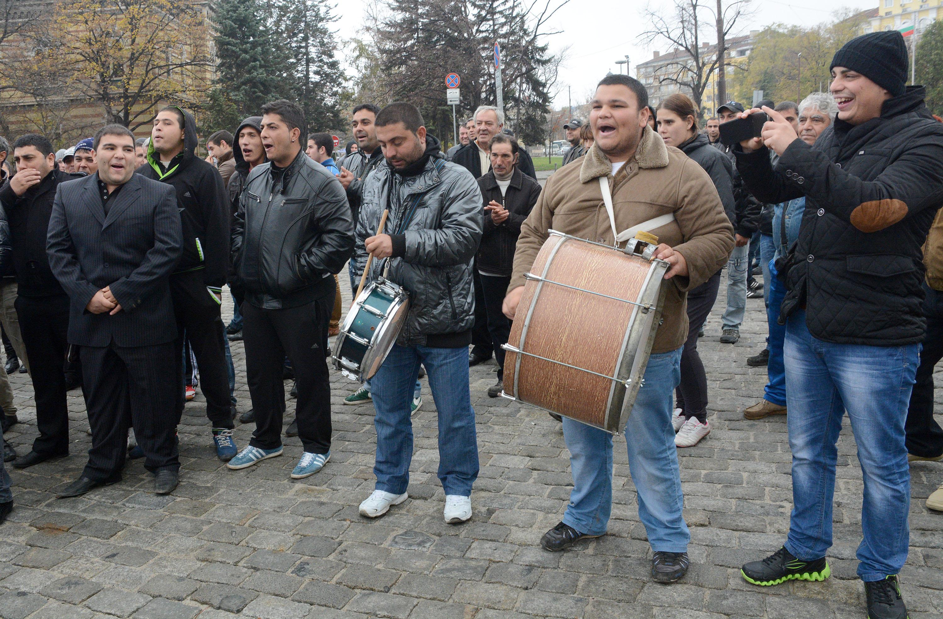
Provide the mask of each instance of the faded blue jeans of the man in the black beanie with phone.
POLYGON ((804 311, 789 317, 784 354, 794 507, 786 550, 799 559, 819 559, 832 546, 835 443, 847 410, 865 481, 858 576, 869 582, 901 570, 910 540, 903 426, 919 350, 919 344, 824 342, 809 334, 804 311))

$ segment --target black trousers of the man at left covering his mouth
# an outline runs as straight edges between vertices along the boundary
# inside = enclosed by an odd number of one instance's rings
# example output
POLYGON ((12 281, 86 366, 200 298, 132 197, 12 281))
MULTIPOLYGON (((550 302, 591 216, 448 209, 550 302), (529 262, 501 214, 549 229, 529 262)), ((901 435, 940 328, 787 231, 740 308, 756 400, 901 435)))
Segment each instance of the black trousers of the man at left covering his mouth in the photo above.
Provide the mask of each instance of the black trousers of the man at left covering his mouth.
POLYGON ((65 365, 69 349, 69 297, 25 297, 14 302, 33 380, 36 427, 33 451, 43 456, 69 452, 69 407, 65 365), (35 361, 33 361, 35 359, 35 361))

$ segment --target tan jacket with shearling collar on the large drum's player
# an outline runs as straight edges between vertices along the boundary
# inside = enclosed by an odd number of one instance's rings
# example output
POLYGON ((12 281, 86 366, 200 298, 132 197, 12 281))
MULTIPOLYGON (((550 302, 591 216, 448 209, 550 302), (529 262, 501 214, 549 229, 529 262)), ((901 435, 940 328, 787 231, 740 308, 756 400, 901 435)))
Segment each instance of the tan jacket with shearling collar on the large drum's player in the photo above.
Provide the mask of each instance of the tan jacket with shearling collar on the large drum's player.
POLYGON ((687 339, 687 291, 716 273, 734 249, 734 228, 723 211, 707 172, 687 155, 645 127, 636 155, 615 177, 612 164, 593 144, 582 165, 566 166, 547 181, 530 216, 521 225, 508 290, 524 285, 549 230, 613 245, 615 238, 605 211, 599 177, 609 177, 619 232, 668 213, 670 223, 650 232, 687 262, 687 277, 665 282, 663 323, 655 334, 653 353, 681 347, 687 339))

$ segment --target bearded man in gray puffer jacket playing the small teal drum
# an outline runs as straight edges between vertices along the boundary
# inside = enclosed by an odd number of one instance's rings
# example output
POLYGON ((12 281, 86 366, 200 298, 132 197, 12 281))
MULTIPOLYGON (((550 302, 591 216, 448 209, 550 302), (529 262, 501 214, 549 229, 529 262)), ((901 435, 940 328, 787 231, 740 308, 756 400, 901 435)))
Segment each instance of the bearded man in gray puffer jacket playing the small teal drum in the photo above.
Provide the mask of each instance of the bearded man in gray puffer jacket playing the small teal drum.
POLYGON ((396 344, 371 379, 376 408, 376 486, 360 514, 376 518, 405 501, 413 453, 409 405, 425 366, 438 410, 438 479, 447 523, 472 517, 478 444, 469 389, 472 343, 472 258, 484 226, 481 191, 472 174, 448 163, 427 135, 415 106, 393 103, 376 115, 384 163, 363 188, 356 226, 356 274, 384 275, 409 293, 396 344), (389 210, 383 234, 376 234, 389 210), (389 261, 387 260, 389 258, 389 261))

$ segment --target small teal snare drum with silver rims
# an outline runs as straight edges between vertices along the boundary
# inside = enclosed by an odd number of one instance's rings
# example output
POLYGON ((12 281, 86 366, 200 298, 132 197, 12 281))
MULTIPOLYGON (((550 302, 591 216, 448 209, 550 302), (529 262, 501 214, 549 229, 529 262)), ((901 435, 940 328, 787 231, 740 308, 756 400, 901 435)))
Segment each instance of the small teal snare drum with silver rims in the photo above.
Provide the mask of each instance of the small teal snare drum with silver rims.
POLYGON ((409 293, 382 277, 364 286, 334 342, 334 367, 362 383, 383 365, 403 330, 409 293))

